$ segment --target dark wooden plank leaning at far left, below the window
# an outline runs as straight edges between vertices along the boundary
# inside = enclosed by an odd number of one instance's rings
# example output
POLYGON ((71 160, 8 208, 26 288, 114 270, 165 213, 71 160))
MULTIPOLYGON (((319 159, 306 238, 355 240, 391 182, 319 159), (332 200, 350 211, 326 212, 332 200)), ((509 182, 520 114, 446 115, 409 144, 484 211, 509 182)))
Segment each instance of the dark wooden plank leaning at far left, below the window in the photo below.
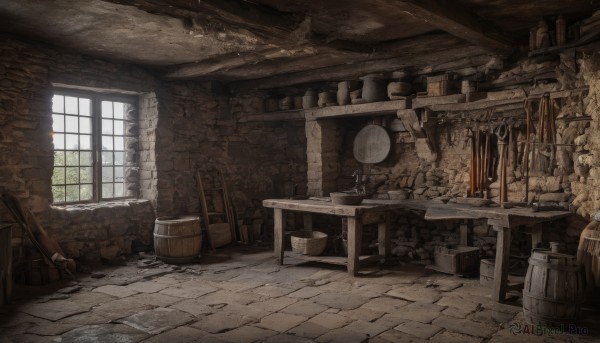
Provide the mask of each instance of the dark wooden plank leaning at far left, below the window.
POLYGON ((61 274, 68 274, 73 277, 75 272, 75 261, 67 259, 58 243, 48 236, 44 227, 38 222, 29 209, 23 207, 19 200, 12 195, 3 194, 2 201, 12 214, 14 220, 21 229, 27 234, 27 237, 33 246, 44 257, 49 268, 56 268, 61 274))

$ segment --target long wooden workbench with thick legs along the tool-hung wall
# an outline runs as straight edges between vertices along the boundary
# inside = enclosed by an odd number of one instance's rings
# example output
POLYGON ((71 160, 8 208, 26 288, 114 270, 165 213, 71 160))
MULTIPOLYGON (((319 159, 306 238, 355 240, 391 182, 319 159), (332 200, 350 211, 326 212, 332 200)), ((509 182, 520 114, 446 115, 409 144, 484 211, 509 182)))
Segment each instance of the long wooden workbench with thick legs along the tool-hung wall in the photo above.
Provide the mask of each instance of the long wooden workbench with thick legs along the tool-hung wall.
MULTIPOLYGON (((443 204, 424 200, 363 200, 360 206, 334 205, 318 200, 269 199, 263 206, 275 210, 275 256, 283 263, 285 222, 283 211, 303 212, 304 227, 312 229, 313 213, 348 218, 348 273, 356 275, 362 238, 362 226, 378 223, 379 255, 389 258, 390 217, 395 210, 413 210, 424 213, 425 220, 474 220, 485 219, 497 232, 496 264, 492 298, 502 301, 508 286, 508 258, 510 255, 511 230, 521 225, 531 226, 532 248, 542 240, 543 223, 570 215, 568 211, 534 212, 531 208, 473 207, 466 204, 443 204)), ((463 243, 464 244, 464 243, 463 243)))

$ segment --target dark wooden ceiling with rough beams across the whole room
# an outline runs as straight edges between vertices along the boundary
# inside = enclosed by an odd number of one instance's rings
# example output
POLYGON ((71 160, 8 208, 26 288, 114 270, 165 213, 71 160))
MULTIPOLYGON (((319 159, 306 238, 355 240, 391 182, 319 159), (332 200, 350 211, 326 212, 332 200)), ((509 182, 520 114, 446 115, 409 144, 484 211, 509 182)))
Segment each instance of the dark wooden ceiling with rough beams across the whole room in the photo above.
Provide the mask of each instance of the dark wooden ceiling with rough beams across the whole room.
POLYGON ((156 68, 262 88, 511 55, 558 14, 600 0, 3 0, 0 30, 156 68))

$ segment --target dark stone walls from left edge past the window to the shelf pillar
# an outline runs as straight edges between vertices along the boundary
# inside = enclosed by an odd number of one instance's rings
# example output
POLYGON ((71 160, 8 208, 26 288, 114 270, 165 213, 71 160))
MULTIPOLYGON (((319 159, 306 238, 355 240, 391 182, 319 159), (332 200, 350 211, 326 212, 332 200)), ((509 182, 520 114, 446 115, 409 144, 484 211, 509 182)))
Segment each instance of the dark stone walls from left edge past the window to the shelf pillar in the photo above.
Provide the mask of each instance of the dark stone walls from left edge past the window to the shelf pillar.
MULTIPOLYGON (((199 214, 196 173, 205 187, 229 187, 238 217, 264 219, 261 200, 306 193, 304 122, 252 121, 267 94, 228 93, 211 83, 167 82, 127 64, 1 36, 0 191, 22 199, 68 257, 114 257, 152 243, 156 215, 199 214), (52 206, 53 86, 139 96, 139 139, 131 140, 128 179, 141 199, 52 206)), ((134 190, 131 190, 132 192, 134 190)), ((131 194, 131 193, 130 193, 131 194)), ((207 192, 219 211, 218 192, 207 192)), ((3 206, 2 220, 10 220, 3 206)), ((26 240, 15 230, 14 245, 26 240)), ((22 252, 19 252, 22 253, 22 252)))

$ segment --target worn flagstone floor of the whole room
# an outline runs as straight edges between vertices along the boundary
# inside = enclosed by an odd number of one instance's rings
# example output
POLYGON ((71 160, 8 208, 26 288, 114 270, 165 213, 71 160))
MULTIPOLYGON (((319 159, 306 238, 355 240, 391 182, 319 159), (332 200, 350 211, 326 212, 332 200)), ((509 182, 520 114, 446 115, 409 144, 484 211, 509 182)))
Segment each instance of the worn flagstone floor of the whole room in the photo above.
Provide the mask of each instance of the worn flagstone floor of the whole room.
POLYGON ((600 341, 596 311, 567 332, 538 335, 544 328, 526 324, 518 298, 500 304, 489 293, 477 278, 421 265, 350 277, 341 267, 294 258, 279 266, 272 250, 233 247, 195 264, 146 256, 73 281, 18 285, 0 308, 0 342, 600 341))

